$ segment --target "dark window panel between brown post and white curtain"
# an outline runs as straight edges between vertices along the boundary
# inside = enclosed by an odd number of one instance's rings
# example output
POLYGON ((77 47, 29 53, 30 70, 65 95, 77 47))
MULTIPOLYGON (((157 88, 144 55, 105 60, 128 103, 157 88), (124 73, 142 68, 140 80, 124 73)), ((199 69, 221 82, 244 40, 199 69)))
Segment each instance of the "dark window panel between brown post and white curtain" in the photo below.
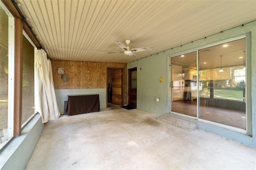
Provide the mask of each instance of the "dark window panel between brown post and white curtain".
POLYGON ((34 114, 34 47, 23 36, 22 124, 34 114))

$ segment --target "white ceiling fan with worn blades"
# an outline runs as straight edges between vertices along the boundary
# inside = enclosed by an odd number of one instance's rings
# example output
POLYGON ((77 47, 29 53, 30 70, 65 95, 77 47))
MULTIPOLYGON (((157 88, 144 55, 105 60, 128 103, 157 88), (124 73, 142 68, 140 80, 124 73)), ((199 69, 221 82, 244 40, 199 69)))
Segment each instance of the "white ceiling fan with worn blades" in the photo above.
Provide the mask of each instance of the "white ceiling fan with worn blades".
POLYGON ((120 41, 115 41, 115 43, 117 45, 119 45, 119 47, 121 47, 122 49, 124 49, 125 51, 121 51, 121 53, 123 52, 125 55, 130 55, 131 57, 136 57, 136 55, 134 54, 135 52, 140 52, 140 51, 148 51, 148 50, 152 50, 153 47, 142 47, 142 48, 133 48, 130 49, 129 47, 129 43, 131 42, 131 40, 125 40, 127 47, 120 41))

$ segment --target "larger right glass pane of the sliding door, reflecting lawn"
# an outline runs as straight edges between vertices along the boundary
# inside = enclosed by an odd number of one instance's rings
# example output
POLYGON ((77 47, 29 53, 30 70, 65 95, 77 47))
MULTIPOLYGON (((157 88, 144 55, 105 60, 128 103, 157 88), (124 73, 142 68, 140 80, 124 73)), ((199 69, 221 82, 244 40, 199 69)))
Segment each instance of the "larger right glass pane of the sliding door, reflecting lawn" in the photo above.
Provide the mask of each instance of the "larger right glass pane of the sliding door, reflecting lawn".
POLYGON ((245 38, 199 50, 200 119, 246 129, 245 38))

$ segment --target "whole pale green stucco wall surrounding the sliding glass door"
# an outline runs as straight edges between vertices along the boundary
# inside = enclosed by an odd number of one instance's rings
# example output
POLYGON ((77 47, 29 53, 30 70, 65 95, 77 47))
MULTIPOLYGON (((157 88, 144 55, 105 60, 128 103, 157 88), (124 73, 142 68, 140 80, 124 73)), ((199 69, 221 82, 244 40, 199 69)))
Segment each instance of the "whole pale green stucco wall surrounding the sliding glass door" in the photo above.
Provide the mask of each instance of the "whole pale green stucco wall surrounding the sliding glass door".
MULTIPOLYGON (((230 30, 223 31, 223 34, 216 33, 204 38, 188 42, 187 44, 180 44, 182 48, 170 47, 170 49, 162 51, 152 56, 144 57, 131 63, 127 63, 127 69, 137 67, 137 108, 144 111, 154 113, 156 115, 163 115, 169 112, 170 103, 170 69, 169 60, 170 55, 182 53, 190 49, 196 49, 211 43, 224 41, 236 36, 245 35, 251 32, 251 84, 247 84, 251 88, 251 109, 252 114, 249 121, 252 120, 252 136, 240 134, 232 130, 214 127, 205 123, 199 123, 198 128, 228 137, 244 144, 256 147, 256 21, 244 24, 244 27, 237 26, 230 30), (140 69, 141 68, 141 69, 140 69), (158 79, 162 77, 163 83, 159 83, 158 79), (160 98, 156 102, 156 97, 160 98)), ((247 50, 248 50, 247 49, 247 50)), ((249 68, 250 69, 250 68, 249 68)), ((250 104, 249 104, 250 105, 250 104)))

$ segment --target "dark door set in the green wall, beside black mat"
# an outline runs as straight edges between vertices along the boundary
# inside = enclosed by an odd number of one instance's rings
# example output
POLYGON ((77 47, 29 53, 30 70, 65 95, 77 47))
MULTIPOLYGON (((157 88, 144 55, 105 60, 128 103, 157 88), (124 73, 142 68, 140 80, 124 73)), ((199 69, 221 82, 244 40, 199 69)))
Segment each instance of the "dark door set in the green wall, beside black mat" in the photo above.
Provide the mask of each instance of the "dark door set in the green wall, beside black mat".
POLYGON ((137 68, 128 70, 129 89, 128 89, 128 104, 137 107, 137 68))

